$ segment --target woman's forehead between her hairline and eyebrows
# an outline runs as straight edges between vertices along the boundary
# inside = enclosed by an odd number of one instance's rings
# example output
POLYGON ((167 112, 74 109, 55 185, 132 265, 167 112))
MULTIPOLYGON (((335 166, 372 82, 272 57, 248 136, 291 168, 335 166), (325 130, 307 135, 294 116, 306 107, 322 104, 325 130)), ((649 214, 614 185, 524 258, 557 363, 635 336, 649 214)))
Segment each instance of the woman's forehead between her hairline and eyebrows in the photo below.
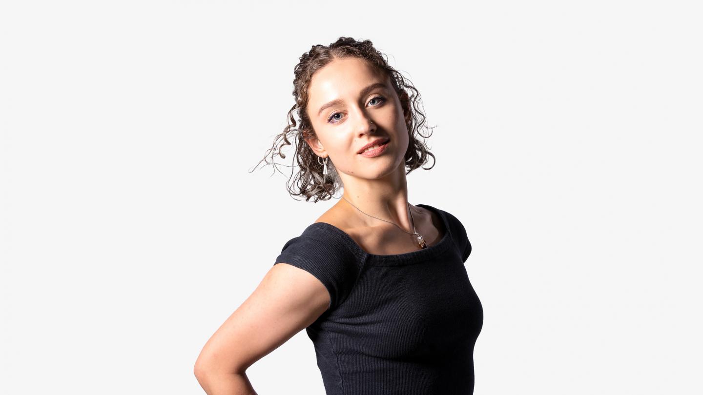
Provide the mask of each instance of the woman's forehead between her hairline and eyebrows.
POLYGON ((337 98, 352 97, 361 89, 382 82, 388 85, 388 77, 359 58, 335 59, 313 75, 308 88, 310 108, 337 98))

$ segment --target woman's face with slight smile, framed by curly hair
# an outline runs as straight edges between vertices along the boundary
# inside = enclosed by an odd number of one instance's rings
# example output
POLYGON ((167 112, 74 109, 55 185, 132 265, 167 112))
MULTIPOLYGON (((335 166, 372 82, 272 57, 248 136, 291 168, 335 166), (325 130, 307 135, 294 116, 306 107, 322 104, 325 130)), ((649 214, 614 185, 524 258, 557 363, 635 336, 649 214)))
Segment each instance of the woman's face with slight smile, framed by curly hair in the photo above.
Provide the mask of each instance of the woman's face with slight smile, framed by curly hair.
POLYGON ((380 179, 405 172, 409 112, 383 72, 359 58, 335 59, 315 72, 308 95, 317 138, 307 143, 317 155, 330 157, 345 185, 348 176, 380 179), (359 153, 378 138, 387 140, 380 155, 359 153))

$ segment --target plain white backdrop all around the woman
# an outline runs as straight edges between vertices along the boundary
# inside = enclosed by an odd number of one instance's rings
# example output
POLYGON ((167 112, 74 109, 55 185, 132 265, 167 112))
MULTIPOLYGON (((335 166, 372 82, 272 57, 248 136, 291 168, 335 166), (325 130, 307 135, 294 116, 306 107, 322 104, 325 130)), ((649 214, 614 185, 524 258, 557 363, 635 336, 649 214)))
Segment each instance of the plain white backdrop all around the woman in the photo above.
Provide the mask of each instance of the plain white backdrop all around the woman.
MULTIPOLYGON (((702 16, 2 1, 0 393, 204 393, 200 349, 336 202, 250 169, 286 125, 299 56, 347 36, 387 53, 435 126, 408 200, 472 242, 475 394, 700 394, 702 16)), ((304 330, 247 375, 262 395, 324 394, 304 330)))

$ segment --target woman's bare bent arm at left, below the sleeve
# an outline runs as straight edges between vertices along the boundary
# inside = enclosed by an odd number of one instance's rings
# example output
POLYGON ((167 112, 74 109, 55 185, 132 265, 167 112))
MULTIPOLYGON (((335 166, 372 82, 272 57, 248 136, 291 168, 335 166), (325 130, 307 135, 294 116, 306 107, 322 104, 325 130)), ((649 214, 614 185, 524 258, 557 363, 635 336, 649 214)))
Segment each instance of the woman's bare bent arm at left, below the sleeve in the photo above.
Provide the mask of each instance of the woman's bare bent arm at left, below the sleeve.
POLYGON ((274 265, 200 351, 194 373, 208 395, 256 394, 245 372, 307 328, 330 304, 327 288, 295 266, 274 265))

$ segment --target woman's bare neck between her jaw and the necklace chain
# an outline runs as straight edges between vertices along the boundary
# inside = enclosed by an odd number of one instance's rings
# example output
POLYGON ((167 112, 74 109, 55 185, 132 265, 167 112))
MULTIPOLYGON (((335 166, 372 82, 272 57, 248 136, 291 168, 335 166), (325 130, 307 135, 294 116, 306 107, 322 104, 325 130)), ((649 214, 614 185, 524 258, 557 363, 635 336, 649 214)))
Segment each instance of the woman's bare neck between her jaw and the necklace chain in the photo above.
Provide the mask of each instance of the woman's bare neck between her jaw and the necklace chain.
POLYGON ((358 218, 359 223, 363 226, 382 224, 382 221, 371 217, 375 216, 385 221, 391 221, 405 231, 413 231, 413 219, 408 211, 410 209, 408 207, 408 184, 403 165, 399 167, 398 171, 393 171, 380 179, 352 178, 344 180, 342 196, 346 200, 340 200, 340 204, 346 204, 352 213, 355 212, 356 216, 352 217, 358 218))

